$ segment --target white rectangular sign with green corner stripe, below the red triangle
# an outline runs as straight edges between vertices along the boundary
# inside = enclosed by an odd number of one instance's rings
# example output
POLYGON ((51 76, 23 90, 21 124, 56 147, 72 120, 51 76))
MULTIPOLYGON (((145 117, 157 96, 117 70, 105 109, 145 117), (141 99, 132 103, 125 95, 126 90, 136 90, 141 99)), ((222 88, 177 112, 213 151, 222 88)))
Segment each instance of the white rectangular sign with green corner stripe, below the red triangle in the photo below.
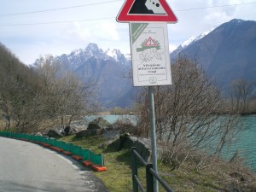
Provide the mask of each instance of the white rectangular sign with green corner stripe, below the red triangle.
POLYGON ((166 23, 130 23, 134 86, 172 84, 166 23))

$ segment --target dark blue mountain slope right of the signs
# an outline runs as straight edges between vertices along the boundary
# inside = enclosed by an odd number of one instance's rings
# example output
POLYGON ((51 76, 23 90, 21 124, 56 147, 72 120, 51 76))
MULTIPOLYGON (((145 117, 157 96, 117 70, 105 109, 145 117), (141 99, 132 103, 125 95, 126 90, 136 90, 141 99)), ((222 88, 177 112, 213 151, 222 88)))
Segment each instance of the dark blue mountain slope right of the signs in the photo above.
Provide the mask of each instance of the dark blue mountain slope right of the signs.
POLYGON ((255 80, 255 50, 256 21, 234 19, 184 49, 174 50, 171 60, 177 55, 197 60, 220 86, 229 87, 236 79, 255 80))

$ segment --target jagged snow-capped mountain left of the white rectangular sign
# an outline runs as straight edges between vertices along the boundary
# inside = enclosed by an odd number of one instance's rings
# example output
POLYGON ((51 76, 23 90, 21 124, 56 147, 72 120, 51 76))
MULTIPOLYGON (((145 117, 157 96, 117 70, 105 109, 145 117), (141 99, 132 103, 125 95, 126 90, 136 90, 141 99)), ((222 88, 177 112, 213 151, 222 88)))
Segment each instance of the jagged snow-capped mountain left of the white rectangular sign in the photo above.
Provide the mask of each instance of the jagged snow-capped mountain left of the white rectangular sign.
POLYGON ((95 81, 105 107, 131 104, 132 96, 127 96, 133 87, 130 79, 124 78, 124 74, 131 70, 130 55, 122 54, 119 49, 103 51, 97 44, 88 44, 85 49, 75 49, 69 55, 53 57, 53 61, 61 63, 62 67, 73 71, 81 79, 95 81))

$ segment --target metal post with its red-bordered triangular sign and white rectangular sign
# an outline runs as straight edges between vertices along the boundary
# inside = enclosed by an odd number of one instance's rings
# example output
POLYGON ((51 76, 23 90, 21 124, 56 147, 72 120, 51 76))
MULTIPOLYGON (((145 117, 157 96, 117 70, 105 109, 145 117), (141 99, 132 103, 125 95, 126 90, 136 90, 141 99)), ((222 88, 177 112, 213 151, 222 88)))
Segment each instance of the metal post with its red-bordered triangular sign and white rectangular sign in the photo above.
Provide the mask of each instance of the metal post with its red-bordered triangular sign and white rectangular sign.
MULTIPOLYGON (((172 84, 167 23, 176 23, 177 17, 166 0, 125 0, 116 20, 130 23, 133 85, 148 86, 153 169, 157 172, 154 86, 172 84)), ((156 179, 154 192, 158 192, 156 179)))

